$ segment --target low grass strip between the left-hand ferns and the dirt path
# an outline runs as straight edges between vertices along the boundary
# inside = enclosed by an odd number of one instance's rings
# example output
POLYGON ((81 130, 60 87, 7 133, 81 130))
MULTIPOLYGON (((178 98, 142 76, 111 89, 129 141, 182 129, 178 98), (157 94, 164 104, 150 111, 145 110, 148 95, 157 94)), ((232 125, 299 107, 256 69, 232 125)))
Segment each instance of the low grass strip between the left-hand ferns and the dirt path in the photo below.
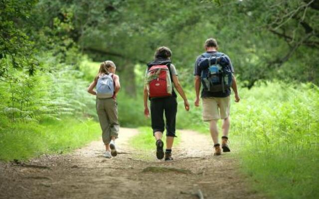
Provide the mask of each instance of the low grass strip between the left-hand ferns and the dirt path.
MULTIPOLYGON (((2 121, 3 122, 3 121, 2 121)), ((62 118, 61 121, 15 122, 0 129, 0 160, 26 160, 42 154, 65 153, 98 139, 98 122, 62 118)))

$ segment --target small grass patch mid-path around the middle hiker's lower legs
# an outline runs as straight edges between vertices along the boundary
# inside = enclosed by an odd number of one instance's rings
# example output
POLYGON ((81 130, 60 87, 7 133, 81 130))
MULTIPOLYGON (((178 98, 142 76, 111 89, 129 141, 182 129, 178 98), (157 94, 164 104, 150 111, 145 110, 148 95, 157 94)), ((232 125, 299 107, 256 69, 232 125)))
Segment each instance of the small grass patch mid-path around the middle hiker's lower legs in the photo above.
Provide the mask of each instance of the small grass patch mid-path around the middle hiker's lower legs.
MULTIPOLYGON (((134 136, 129 140, 130 145, 138 150, 144 150, 144 151, 151 151, 155 150, 155 138, 153 136, 153 130, 151 127, 139 127, 138 130, 140 131, 139 134, 134 136)), ((174 139, 173 147, 177 146, 180 142, 180 139, 178 137, 178 131, 176 131, 176 138, 174 139)), ((166 136, 165 133, 163 134, 162 140, 164 142, 164 149, 165 149, 165 140, 166 136)))

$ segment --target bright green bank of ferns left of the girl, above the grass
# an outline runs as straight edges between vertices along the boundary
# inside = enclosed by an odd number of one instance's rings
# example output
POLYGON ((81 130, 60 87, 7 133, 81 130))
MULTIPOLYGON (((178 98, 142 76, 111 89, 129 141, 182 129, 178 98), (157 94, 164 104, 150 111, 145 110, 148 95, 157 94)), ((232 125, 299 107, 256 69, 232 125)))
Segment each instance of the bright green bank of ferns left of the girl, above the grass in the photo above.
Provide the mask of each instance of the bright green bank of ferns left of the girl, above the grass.
POLYGON ((0 82, 0 107, 13 122, 18 120, 59 119, 62 115, 95 115, 95 100, 86 92, 82 74, 65 66, 57 72, 41 72, 29 77, 16 72, 16 78, 0 82))

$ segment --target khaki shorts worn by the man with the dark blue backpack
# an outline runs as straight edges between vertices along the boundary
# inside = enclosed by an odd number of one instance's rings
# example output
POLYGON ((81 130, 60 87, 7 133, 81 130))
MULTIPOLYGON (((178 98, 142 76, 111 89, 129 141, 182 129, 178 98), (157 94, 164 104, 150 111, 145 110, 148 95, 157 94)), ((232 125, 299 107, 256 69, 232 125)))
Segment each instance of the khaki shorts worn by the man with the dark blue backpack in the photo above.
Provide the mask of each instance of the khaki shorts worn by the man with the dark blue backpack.
POLYGON ((230 96, 226 98, 203 98, 203 120, 226 119, 230 112, 230 96))

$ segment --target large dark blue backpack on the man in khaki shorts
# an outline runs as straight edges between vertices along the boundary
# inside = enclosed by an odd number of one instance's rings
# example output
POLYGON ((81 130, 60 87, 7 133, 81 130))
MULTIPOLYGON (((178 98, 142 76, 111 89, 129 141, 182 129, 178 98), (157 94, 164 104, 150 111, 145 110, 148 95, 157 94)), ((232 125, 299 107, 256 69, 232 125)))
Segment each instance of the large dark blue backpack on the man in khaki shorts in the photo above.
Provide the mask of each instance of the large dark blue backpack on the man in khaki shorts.
POLYGON ((199 60, 201 83, 208 92, 223 92, 232 85, 230 60, 223 53, 203 53, 199 60))

